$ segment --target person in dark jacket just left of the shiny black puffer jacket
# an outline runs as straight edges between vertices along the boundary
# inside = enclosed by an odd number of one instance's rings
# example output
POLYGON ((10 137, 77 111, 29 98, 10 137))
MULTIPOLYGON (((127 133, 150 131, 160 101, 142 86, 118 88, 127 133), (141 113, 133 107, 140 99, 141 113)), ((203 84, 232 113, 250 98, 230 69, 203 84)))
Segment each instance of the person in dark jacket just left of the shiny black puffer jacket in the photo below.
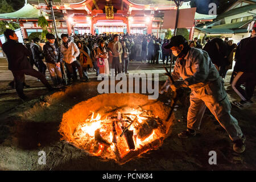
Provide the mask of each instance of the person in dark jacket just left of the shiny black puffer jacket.
POLYGON ((46 65, 43 62, 44 54, 43 49, 40 46, 40 39, 34 38, 34 43, 31 43, 30 48, 33 55, 34 63, 36 65, 36 68, 38 68, 38 71, 43 73, 44 76, 46 76, 46 65))

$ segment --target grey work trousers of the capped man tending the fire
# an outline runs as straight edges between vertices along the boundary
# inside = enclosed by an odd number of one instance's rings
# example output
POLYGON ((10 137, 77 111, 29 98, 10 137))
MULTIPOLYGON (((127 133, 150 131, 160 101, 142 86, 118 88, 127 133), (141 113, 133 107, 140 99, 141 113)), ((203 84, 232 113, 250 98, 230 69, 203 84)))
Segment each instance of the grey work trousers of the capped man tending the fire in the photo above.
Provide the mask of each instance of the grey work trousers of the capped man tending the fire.
POLYGON ((226 130, 230 139, 237 140, 242 137, 243 134, 237 119, 230 114, 231 105, 221 78, 202 88, 192 90, 187 117, 188 129, 200 129, 206 107, 226 130))

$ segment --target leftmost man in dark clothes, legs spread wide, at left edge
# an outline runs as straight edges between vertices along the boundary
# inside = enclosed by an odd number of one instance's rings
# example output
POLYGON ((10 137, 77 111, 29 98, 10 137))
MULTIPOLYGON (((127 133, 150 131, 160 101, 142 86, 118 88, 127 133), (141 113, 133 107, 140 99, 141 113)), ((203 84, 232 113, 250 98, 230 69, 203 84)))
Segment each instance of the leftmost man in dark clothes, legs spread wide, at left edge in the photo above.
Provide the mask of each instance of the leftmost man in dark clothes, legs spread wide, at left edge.
POLYGON ((15 89, 18 96, 22 100, 28 100, 28 97, 23 92, 24 75, 30 75, 38 78, 48 90, 53 90, 52 86, 46 80, 46 77, 32 68, 27 57, 30 56, 30 51, 19 43, 18 36, 14 30, 6 29, 4 35, 7 42, 3 44, 3 52, 5 52, 8 61, 8 69, 13 73, 15 81, 15 89))

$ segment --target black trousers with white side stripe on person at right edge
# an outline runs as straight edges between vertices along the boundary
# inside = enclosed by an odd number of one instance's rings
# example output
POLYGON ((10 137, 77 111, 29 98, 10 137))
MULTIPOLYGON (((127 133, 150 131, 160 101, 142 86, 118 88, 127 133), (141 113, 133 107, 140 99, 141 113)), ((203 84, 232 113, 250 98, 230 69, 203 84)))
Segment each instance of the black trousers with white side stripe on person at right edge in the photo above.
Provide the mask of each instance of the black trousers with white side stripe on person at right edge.
POLYGON ((232 81, 232 88, 241 97, 243 101, 251 100, 253 97, 254 88, 256 85, 256 74, 238 72, 236 77, 232 81), (241 85, 245 84, 245 90, 241 88, 241 85))

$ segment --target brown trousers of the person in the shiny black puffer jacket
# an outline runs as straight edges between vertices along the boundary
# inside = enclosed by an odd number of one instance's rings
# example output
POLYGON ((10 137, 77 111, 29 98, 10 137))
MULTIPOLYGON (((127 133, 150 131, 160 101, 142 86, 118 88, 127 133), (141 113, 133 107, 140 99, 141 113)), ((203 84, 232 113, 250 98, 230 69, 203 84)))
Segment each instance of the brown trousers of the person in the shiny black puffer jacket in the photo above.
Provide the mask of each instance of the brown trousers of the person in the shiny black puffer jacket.
POLYGON ((59 84, 63 84, 63 78, 60 67, 57 67, 56 64, 46 63, 49 74, 52 78, 52 82, 54 86, 59 84))

